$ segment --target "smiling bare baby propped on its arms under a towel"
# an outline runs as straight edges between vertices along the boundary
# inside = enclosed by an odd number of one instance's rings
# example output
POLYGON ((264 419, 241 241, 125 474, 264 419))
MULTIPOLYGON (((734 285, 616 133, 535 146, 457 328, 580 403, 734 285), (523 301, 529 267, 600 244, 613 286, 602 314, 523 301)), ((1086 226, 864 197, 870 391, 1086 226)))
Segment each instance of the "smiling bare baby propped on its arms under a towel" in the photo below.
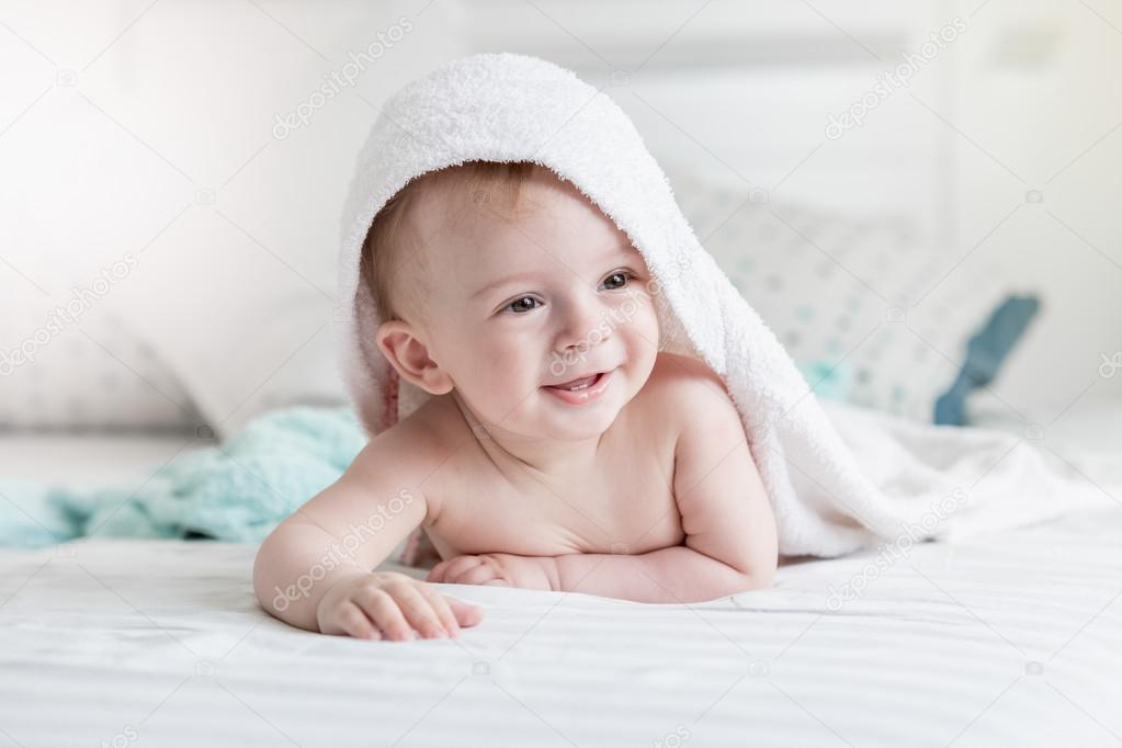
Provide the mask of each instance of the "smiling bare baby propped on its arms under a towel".
POLYGON ((657 283, 571 183, 468 161, 374 220, 361 281, 377 345, 430 397, 266 538, 263 607, 359 638, 457 636, 482 610, 430 583, 646 602, 770 587, 771 505, 720 378, 660 351, 657 283), (384 526, 295 599, 278 590, 373 514, 384 526), (375 569, 419 525, 425 580, 375 569))

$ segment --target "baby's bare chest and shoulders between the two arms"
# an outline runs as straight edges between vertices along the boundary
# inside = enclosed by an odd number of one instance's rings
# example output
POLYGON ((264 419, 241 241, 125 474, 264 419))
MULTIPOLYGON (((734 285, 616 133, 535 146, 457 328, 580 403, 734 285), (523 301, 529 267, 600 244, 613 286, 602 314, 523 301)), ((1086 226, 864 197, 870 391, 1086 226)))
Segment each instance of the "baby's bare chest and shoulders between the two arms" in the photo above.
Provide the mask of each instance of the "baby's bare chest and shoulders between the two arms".
MULTIPOLYGON (((399 424, 439 440, 427 449, 423 524, 441 557, 484 553, 640 554, 686 537, 673 493, 674 444, 684 415, 662 384, 662 353, 646 385, 605 433, 595 463, 551 480, 500 469, 450 399, 431 398, 399 424)), ((443 396, 447 398, 447 396, 443 396)))

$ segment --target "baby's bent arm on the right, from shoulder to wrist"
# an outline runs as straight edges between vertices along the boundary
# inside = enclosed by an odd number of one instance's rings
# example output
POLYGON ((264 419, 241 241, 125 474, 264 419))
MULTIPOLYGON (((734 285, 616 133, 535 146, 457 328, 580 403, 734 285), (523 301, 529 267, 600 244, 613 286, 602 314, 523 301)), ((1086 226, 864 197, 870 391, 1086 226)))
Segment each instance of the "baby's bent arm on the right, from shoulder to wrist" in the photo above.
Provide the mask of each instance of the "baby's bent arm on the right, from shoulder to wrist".
POLYGON ((739 414, 716 375, 675 384, 687 423, 674 453, 684 545, 557 556, 559 589, 641 602, 698 602, 771 587, 775 519, 739 414))

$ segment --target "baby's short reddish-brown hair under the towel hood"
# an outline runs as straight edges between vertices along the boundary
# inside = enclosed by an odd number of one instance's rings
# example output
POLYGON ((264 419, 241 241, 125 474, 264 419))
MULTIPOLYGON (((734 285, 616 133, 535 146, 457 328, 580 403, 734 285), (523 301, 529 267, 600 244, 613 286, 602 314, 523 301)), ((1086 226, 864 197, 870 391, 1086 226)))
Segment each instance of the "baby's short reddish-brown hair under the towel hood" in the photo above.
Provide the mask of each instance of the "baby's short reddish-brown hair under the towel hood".
MULTIPOLYGON (((516 205, 523 184, 534 167, 535 164, 531 161, 466 161, 422 174, 390 197, 374 216, 362 242, 359 261, 359 273, 376 301, 379 320, 388 322, 404 318, 401 299, 394 296, 394 286, 401 288, 401 281, 398 279, 395 284, 394 277, 398 275, 403 264, 410 261, 403 251, 405 242, 402 227, 422 191, 436 185, 467 190, 469 200, 476 204, 491 203, 493 194, 505 191, 505 203, 516 205)), ((424 238, 414 237, 414 240, 420 242, 424 238)), ((417 248, 412 248, 412 251, 417 251, 417 248)), ((415 292, 415 288, 408 290, 415 292)), ((417 308, 423 305, 408 306, 417 308)))

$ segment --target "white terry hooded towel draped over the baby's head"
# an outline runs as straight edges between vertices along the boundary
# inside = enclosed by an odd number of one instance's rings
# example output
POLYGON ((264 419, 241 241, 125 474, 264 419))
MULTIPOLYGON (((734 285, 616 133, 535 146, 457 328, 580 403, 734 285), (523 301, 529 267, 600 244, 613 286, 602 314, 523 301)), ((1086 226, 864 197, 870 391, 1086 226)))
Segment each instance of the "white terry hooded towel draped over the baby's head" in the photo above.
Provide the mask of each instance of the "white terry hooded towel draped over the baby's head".
MULTIPOLYGON (((627 116, 572 72, 534 57, 444 64, 386 102, 364 146, 339 255, 342 375, 375 435, 427 394, 381 355, 359 256, 374 215, 410 179, 467 160, 541 164, 632 240, 652 278, 665 350, 702 359, 739 409, 784 555, 1000 529, 1056 516, 1088 487, 999 432, 824 410, 775 335, 699 243, 627 116)), ((921 372, 920 372, 921 375, 921 372)), ((727 487, 738 490, 736 486, 727 487)))

